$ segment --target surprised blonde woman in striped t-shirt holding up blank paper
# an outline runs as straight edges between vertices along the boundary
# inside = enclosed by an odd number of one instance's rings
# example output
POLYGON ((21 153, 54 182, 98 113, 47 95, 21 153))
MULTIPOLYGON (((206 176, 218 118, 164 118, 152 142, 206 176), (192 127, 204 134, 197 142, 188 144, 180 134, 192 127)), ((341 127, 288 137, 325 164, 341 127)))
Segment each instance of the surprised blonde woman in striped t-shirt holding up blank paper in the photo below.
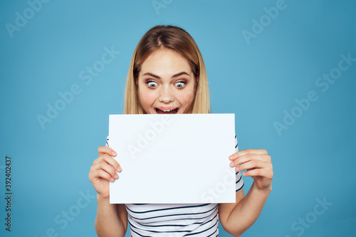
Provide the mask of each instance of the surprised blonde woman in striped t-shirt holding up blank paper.
MULTIPOLYGON (((189 33, 176 26, 155 26, 142 37, 127 75, 124 113, 211 113, 204 60, 189 33)), ((236 203, 110 204, 109 182, 122 168, 108 144, 99 147, 89 172, 98 192, 98 236, 125 236, 127 222, 131 236, 218 236, 218 220, 228 233, 240 236, 256 221, 272 189, 266 150, 238 151, 236 140, 236 153, 229 156, 236 169, 236 203), (254 180, 246 197, 243 170, 254 180)))

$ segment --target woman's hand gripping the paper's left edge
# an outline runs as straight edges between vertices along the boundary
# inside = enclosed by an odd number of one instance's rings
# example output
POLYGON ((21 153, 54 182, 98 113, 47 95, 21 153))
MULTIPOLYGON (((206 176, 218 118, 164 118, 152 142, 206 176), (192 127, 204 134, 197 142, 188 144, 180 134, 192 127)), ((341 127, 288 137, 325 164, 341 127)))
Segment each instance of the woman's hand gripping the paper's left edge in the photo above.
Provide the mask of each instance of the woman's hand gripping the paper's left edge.
POLYGON ((94 189, 103 199, 110 197, 110 184, 119 176, 115 172, 121 172, 119 163, 112 157, 116 153, 108 146, 100 146, 98 148, 99 157, 94 160, 93 165, 90 167, 89 180, 92 182, 94 189))

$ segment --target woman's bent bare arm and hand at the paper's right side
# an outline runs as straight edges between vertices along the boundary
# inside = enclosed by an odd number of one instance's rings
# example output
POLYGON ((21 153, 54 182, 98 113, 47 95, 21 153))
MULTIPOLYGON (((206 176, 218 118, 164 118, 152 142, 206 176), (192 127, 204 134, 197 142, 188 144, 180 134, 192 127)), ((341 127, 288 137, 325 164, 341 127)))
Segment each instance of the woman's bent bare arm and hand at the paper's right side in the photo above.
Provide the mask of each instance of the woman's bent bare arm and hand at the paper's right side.
POLYGON ((246 197, 241 189, 236 192, 236 203, 219 204, 221 225, 228 233, 241 236, 261 214, 272 190, 273 170, 266 150, 241 150, 231 155, 230 159, 232 167, 239 165, 236 171, 247 170, 244 176, 251 176, 254 180, 246 197))

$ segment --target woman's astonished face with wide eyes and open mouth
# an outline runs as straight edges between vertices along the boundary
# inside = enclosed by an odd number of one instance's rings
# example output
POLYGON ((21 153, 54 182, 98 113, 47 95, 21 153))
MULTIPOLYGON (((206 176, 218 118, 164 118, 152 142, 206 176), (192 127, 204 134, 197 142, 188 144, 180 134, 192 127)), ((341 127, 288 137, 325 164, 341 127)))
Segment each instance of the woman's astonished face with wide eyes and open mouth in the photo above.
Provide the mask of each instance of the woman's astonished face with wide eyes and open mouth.
POLYGON ((142 63, 137 85, 146 114, 185 114, 196 89, 188 60, 167 49, 156 50, 142 63))

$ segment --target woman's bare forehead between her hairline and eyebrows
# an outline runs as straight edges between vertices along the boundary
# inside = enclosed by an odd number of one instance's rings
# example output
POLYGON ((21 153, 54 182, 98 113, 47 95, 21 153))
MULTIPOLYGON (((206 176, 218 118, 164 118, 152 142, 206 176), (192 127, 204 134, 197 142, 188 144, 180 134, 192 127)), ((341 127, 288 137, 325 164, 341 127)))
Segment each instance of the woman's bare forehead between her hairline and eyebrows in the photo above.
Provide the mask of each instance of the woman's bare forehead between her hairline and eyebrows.
POLYGON ((190 73, 192 70, 189 61, 180 53, 169 49, 159 49, 142 63, 141 71, 142 73, 177 73, 178 71, 190 73))

